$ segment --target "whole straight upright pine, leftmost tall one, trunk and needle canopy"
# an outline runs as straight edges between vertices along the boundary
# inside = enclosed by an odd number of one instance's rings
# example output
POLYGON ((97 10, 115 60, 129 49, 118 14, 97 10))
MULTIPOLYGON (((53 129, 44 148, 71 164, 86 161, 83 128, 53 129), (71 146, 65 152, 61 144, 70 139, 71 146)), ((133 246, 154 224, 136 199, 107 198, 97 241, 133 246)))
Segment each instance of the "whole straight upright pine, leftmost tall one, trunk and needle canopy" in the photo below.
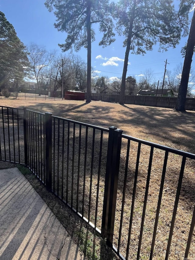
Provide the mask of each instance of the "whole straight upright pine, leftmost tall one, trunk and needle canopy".
POLYGON ((87 48, 87 102, 91 101, 91 42, 95 40, 93 23, 99 23, 103 32, 99 45, 105 47, 114 41, 113 23, 108 0, 46 0, 46 7, 57 17, 55 28, 68 35, 65 44, 59 44, 65 52, 74 45, 75 51, 87 48))

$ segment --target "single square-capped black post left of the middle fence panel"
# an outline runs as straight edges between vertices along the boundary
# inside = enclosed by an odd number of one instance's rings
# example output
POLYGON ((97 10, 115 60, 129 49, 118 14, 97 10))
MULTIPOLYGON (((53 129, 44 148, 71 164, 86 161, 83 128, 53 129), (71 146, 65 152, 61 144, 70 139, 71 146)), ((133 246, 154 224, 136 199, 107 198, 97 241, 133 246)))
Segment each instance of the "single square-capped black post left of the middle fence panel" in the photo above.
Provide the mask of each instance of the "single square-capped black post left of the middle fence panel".
POLYGON ((45 185, 52 188, 52 113, 45 113, 45 185))

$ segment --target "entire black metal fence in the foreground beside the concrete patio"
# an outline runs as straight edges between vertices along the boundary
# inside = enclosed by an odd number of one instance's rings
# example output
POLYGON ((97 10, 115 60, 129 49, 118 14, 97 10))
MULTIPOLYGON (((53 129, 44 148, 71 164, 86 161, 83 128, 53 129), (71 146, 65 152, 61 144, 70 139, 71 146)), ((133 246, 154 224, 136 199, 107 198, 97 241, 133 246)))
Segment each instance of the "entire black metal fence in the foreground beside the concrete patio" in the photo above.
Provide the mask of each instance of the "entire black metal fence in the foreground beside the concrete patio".
POLYGON ((25 108, 1 107, 0 122, 0 159, 25 163, 49 191, 106 237, 121 259, 160 254, 168 259, 172 244, 187 259, 195 225, 193 196, 179 215, 185 230, 177 214, 184 207, 182 181, 194 171, 194 154, 124 135, 114 126, 25 108), (166 237, 159 238, 161 229, 166 237), (175 244, 177 236, 185 249, 175 244), (158 252, 159 243, 166 244, 163 252, 158 252))

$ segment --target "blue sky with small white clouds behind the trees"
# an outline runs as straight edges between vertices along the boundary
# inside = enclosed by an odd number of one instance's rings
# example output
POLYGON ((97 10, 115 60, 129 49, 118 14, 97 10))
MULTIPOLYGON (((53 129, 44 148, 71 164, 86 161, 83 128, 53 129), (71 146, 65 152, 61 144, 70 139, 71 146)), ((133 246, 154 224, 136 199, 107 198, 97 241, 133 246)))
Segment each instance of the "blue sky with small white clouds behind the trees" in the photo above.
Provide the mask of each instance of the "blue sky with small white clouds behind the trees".
MULTIPOLYGON (((5 13, 6 19, 12 23, 16 33, 25 45, 34 42, 44 45, 48 50, 56 49, 61 52, 58 43, 64 43, 65 32, 54 28, 55 16, 48 12, 44 0, 0 0, 0 10, 5 13)), ((190 14, 192 16, 192 13, 190 14)), ((98 45, 101 34, 97 31, 96 41, 92 43, 92 66, 98 75, 122 77, 125 48, 122 47, 123 38, 116 34, 116 41, 102 48, 98 45)), ((185 45, 186 38, 182 38, 176 48, 169 48, 167 52, 158 52, 158 45, 153 51, 143 55, 129 54, 127 76, 135 76, 137 81, 146 69, 151 69, 156 81, 162 81, 167 59, 167 69, 173 70, 179 63, 183 63, 181 48, 185 45)), ((81 48, 76 54, 87 61, 87 50, 81 48)), ((192 67, 195 67, 195 58, 192 67)))

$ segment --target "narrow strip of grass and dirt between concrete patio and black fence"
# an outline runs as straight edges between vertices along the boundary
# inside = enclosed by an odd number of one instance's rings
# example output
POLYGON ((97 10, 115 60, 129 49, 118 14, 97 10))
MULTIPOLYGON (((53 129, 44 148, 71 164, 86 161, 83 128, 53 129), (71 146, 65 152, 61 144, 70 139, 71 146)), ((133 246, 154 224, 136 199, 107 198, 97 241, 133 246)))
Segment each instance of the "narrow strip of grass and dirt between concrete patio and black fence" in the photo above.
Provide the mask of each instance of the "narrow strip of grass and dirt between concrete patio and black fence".
MULTIPOLYGON (((98 236, 86 223, 84 223, 74 212, 64 205, 54 194, 48 192, 45 186, 35 178, 34 174, 24 166, 19 166, 27 171, 25 177, 48 205, 57 219, 65 227, 66 231, 79 245, 84 254, 83 259, 118 259, 112 249, 106 246, 105 240, 98 236)), ((21 170, 23 172, 23 170, 21 170)))

